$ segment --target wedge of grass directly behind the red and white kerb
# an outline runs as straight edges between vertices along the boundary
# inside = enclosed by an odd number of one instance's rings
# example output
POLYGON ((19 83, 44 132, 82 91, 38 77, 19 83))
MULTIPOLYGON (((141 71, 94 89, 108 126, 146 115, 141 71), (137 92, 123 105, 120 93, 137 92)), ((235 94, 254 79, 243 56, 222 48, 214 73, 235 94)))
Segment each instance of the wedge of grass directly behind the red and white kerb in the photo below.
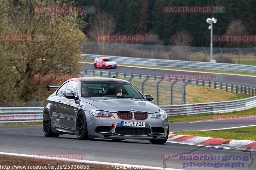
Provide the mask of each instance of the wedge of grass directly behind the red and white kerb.
POLYGON ((212 131, 177 131, 175 135, 193 135, 202 137, 216 137, 224 139, 237 139, 237 140, 256 140, 256 126, 236 128, 236 129, 225 129, 225 130, 212 130, 212 131))

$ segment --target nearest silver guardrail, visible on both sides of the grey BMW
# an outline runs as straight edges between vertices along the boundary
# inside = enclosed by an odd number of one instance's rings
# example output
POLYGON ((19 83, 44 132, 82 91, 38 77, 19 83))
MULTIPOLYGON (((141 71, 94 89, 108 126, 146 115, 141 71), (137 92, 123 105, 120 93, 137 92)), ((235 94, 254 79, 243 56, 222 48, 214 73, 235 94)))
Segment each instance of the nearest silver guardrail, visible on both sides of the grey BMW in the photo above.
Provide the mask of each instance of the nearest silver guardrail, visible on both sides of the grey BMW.
MULTIPOLYGON (((231 101, 159 106, 168 116, 228 113, 256 107, 256 96, 231 101)), ((0 123, 43 121, 43 107, 0 107, 0 123)))

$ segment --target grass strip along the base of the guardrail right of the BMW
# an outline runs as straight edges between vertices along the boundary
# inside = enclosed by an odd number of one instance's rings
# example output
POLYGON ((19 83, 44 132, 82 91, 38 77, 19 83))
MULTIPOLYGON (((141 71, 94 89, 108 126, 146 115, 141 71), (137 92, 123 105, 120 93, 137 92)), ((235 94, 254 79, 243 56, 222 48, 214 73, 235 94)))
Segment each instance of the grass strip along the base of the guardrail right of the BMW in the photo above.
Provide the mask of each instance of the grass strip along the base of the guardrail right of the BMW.
MULTIPOLYGON (((212 119, 213 115, 216 114, 202 114, 202 115, 184 115, 184 116, 171 116, 168 117, 168 122, 186 122, 186 121, 200 121, 200 120, 210 120, 212 119)), ((237 111, 232 113, 223 113, 218 115, 256 115, 256 107, 244 111, 237 111)))

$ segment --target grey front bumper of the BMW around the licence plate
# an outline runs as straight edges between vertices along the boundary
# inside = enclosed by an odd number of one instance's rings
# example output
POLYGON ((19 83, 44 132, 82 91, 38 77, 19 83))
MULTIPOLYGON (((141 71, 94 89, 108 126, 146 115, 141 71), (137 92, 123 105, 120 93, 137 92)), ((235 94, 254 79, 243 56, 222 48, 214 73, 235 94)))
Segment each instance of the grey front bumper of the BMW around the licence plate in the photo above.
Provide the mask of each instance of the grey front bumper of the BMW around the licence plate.
MULTIPOLYGON (((134 113, 133 113, 134 114, 134 113)), ((97 138, 120 138, 120 139, 163 139, 167 136, 167 128, 168 128, 168 120, 165 118, 152 118, 153 114, 148 114, 148 118, 146 120, 121 120, 118 118, 116 113, 112 113, 113 117, 95 117, 90 111, 86 114, 87 119, 87 129, 88 135, 90 137, 97 138), (143 130, 148 128, 149 133, 146 135, 125 135, 118 134, 116 128, 131 128, 135 129, 138 127, 121 127, 121 121, 137 121, 137 122, 145 122, 146 127, 140 127, 143 130), (112 124, 115 124, 113 128, 109 128, 109 130, 99 130, 97 127, 110 127, 112 124), (164 129, 161 132, 156 132, 155 128, 164 129)), ((136 130, 136 129, 135 129, 136 130)))

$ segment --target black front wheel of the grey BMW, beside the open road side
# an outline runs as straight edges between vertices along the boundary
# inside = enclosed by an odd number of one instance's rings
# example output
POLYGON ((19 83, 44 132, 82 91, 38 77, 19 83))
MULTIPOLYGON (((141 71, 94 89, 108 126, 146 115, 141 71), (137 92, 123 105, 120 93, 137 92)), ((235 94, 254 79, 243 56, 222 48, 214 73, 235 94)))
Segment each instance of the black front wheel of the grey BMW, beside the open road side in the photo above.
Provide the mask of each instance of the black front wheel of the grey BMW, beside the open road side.
POLYGON ((89 139, 86 118, 83 112, 79 112, 76 118, 76 135, 78 139, 89 139))

